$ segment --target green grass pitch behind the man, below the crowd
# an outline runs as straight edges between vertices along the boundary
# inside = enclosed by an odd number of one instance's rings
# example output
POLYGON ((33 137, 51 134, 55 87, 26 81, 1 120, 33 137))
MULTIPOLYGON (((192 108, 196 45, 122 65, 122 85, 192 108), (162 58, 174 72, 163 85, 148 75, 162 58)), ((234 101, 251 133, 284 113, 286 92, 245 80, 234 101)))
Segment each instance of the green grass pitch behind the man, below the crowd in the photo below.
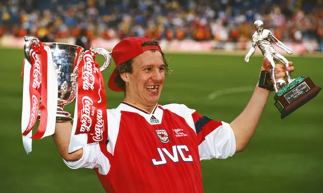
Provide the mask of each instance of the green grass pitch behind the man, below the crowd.
MULTIPOLYGON (((257 83, 261 57, 167 54, 173 70, 165 80, 160 104, 184 103, 200 114, 231 122, 244 109, 257 83), (209 97, 211 95, 211 97, 209 97)), ((51 137, 33 141, 24 152, 21 137, 23 49, 0 49, 0 192, 104 192, 91 169, 71 170, 51 137)), ((323 86, 322 58, 292 57, 292 77, 311 77, 323 86)), ((102 58, 98 58, 102 63, 102 58)), ((114 65, 114 64, 113 64, 114 65)), ((107 81, 111 67, 104 72, 107 81)), ((106 89, 107 106, 115 108, 122 93, 106 89)), ((323 93, 283 120, 269 98, 247 149, 225 160, 202 161, 206 193, 322 193, 323 93)), ((74 104, 66 106, 73 113, 74 104)), ((180 179, 179 179, 180 180, 180 179)))

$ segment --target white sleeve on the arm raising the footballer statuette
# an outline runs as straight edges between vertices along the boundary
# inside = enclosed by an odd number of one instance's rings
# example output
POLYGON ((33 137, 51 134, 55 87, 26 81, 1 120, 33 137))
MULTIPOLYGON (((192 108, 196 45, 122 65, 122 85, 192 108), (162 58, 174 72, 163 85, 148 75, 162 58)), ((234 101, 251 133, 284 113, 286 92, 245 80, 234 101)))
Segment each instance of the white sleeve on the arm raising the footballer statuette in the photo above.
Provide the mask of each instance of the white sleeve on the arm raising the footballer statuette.
POLYGON ((200 160, 225 159, 235 153, 235 137, 230 124, 223 122, 199 145, 200 160))

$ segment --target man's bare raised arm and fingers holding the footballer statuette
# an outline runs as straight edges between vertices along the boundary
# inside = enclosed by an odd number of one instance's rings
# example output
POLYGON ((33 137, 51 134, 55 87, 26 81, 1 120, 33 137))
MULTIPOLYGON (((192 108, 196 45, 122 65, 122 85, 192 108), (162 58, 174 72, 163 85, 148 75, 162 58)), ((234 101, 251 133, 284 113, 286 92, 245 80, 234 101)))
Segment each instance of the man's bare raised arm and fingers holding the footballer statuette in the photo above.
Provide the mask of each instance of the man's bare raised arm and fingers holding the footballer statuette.
MULTIPOLYGON (((286 68, 286 70, 293 72, 293 63, 289 62, 289 64, 290 65, 286 68)), ((270 71, 269 66, 270 62, 267 58, 264 58, 261 70, 270 71)), ((279 79, 284 77, 284 71, 284 67, 277 64, 276 78, 279 79)), ((256 86, 254 89, 254 94, 246 108, 230 123, 230 126, 234 132, 236 152, 242 152, 246 148, 251 137, 254 135, 269 95, 270 91, 256 86)))

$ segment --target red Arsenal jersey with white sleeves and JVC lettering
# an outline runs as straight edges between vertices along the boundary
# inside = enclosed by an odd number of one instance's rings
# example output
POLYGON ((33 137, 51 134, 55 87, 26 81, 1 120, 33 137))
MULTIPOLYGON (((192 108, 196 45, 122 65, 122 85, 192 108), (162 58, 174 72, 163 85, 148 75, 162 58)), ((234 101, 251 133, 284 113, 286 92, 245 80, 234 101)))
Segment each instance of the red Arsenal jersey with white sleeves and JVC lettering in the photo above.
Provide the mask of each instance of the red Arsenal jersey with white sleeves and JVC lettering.
POLYGON ((200 160, 235 153, 228 123, 183 104, 149 113, 122 102, 107 114, 108 141, 87 144, 81 159, 64 162, 94 169, 108 193, 203 193, 200 160))

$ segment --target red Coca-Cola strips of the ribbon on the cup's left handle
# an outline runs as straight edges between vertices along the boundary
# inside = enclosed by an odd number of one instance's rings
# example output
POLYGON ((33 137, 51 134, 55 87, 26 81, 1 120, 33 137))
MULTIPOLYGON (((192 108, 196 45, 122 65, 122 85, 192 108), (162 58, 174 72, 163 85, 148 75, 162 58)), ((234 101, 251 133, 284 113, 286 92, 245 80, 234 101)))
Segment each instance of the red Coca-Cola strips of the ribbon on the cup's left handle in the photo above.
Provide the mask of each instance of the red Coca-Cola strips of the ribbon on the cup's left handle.
POLYGON ((40 105, 40 124, 31 138, 41 139, 47 126, 47 52, 42 42, 39 42, 39 46, 32 45, 30 58, 32 66, 29 80, 30 116, 28 126, 23 135, 27 135, 34 128, 40 105), (36 58, 38 54, 40 54, 40 60, 36 58), (42 102, 40 103, 41 96, 42 102))

